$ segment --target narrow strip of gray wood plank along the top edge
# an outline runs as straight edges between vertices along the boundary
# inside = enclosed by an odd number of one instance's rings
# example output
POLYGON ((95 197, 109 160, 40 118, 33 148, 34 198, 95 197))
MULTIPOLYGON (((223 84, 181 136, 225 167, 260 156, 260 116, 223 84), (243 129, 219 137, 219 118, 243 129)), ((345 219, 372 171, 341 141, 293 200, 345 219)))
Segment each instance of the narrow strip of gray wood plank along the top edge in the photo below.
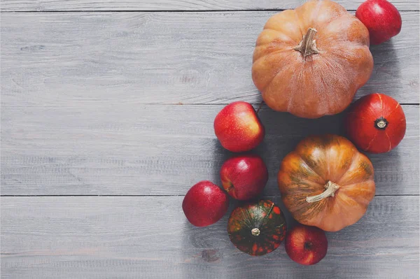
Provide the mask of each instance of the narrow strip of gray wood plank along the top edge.
MULTIPOLYGON (((419 10, 419 1, 393 0, 398 10, 419 10)), ((3 0, 2 11, 45 10, 267 10, 296 8, 303 0, 3 0)), ((338 0, 346 9, 356 10, 363 0, 338 0)))

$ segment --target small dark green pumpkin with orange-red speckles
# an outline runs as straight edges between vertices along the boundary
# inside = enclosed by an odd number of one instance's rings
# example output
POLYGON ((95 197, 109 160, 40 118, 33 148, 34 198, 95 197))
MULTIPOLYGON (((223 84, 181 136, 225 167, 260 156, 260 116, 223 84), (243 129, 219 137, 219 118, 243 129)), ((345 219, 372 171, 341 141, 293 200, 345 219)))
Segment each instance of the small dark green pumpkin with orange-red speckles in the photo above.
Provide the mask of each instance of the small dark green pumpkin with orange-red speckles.
POLYGON ((286 236, 286 219, 272 201, 246 203, 232 211, 228 233, 239 250, 261 256, 279 247, 286 236))

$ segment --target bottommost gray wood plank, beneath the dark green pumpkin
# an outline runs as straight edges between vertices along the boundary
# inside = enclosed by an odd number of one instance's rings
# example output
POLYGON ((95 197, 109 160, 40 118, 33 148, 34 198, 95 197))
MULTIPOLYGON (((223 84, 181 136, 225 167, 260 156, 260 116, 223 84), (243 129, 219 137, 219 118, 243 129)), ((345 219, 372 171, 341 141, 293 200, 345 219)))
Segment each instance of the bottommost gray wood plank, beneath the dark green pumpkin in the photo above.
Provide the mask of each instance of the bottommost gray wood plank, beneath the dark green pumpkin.
POLYGON ((182 199, 2 197, 1 278, 419 278, 419 196, 376 196, 358 223, 327 234, 328 254, 307 267, 283 245, 263 257, 240 252, 228 215, 191 226, 182 199))

